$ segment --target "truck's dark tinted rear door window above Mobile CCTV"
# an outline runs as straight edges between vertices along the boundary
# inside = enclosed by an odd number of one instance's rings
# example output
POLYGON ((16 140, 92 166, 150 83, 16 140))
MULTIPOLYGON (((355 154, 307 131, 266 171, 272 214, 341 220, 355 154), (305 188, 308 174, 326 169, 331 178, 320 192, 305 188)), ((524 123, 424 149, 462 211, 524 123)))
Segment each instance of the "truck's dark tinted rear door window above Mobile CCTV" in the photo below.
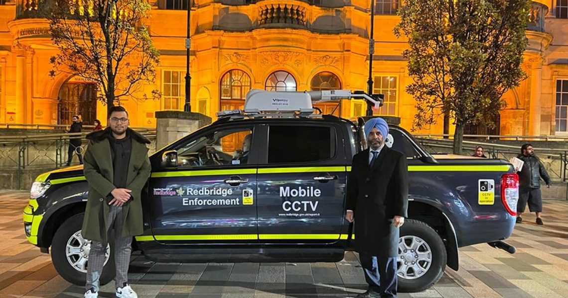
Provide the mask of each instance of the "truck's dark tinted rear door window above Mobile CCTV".
POLYGON ((270 126, 268 163, 308 163, 335 157, 335 129, 329 126, 270 126))

